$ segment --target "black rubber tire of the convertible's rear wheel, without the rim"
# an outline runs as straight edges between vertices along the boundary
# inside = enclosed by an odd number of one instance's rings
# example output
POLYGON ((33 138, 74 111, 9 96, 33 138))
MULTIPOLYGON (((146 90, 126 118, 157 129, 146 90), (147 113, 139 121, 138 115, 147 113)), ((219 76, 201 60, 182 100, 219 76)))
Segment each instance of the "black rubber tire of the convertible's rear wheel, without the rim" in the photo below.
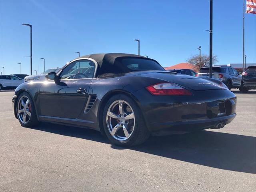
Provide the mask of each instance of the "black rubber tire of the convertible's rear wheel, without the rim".
POLYGON ((142 112, 141 112, 140 108, 137 106, 137 104, 134 102, 134 100, 132 98, 130 98, 129 96, 126 96, 124 94, 114 95, 106 103, 104 111, 103 111, 103 127, 104 127, 104 131, 105 131, 108 139, 113 144, 118 145, 118 146, 123 146, 123 147, 136 146, 136 145, 142 144, 143 142, 145 142, 148 139, 148 137, 150 135, 148 128, 146 127, 146 124, 145 124, 145 121, 142 116, 142 112), (134 126, 132 134, 130 135, 129 138, 127 138, 126 140, 122 140, 122 141, 115 139, 110 134, 110 131, 108 130, 107 120, 106 120, 108 108, 110 107, 110 105, 113 102, 115 102, 117 100, 124 100, 131 106, 131 108, 134 112, 134 119, 135 119, 135 126, 134 126))

